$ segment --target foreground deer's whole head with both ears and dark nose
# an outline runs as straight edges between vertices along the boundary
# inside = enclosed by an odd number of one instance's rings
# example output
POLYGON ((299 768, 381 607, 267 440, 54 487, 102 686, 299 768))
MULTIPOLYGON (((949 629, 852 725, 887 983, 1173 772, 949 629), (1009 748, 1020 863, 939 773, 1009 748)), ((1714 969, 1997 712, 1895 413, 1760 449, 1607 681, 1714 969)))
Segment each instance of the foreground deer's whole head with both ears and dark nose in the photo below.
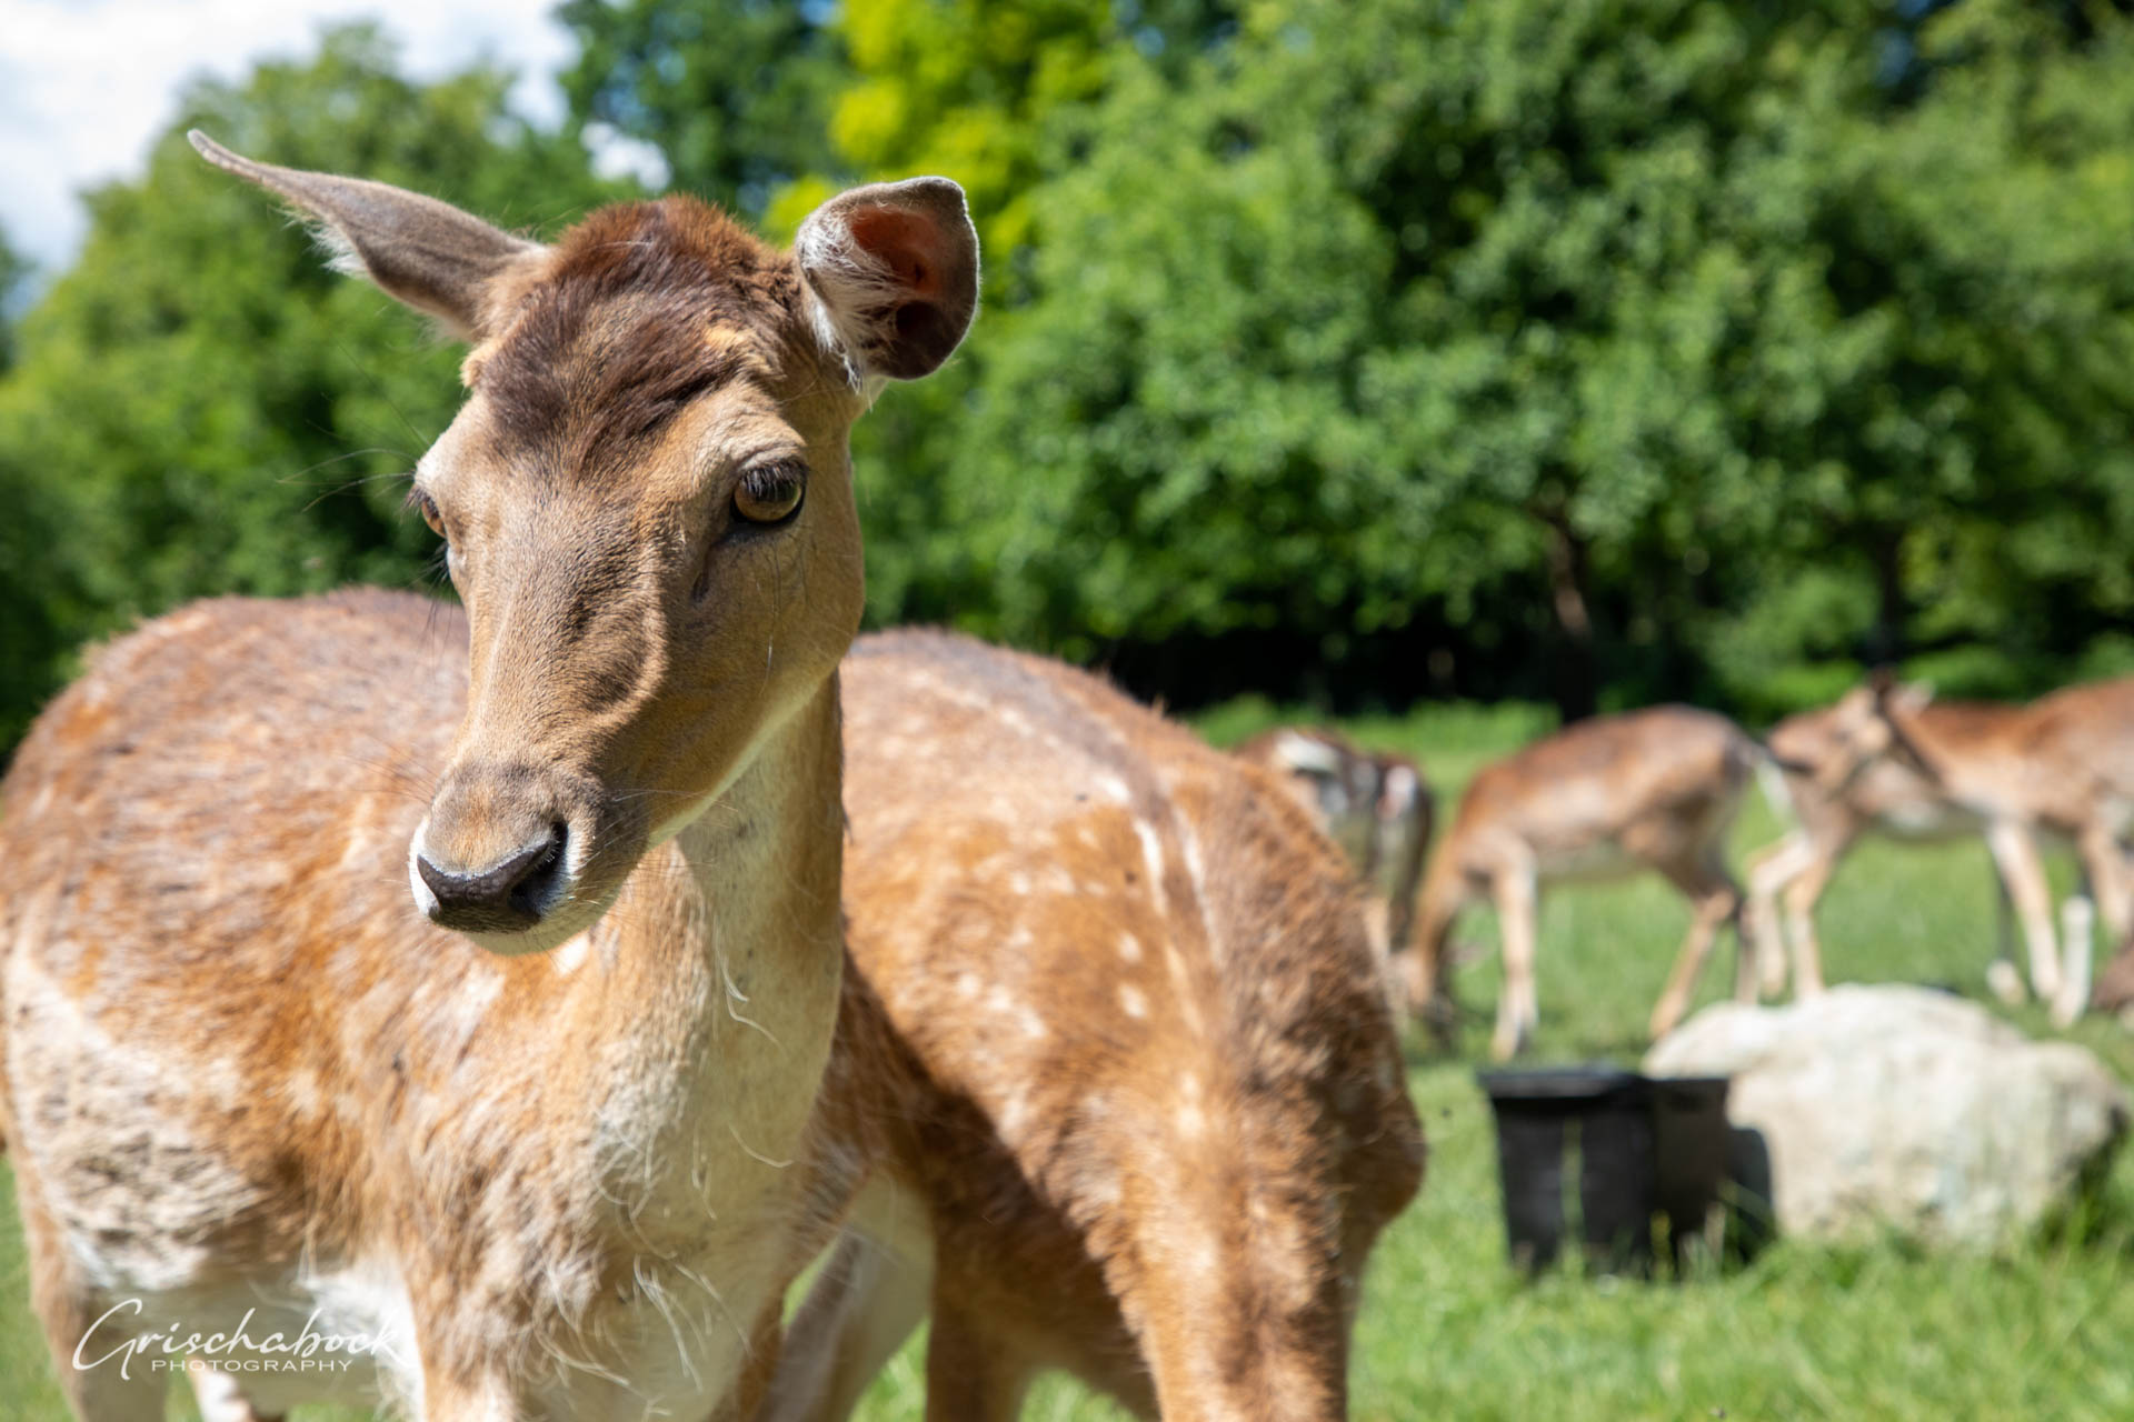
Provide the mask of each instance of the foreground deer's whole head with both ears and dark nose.
POLYGON ((504 953, 589 927, 728 789, 860 623, 847 433, 935 369, 977 294, 962 194, 860 188, 798 256, 689 198, 540 247, 356 179, 213 162, 292 198, 474 339, 416 469, 467 605, 467 716, 410 844, 433 921, 504 953))

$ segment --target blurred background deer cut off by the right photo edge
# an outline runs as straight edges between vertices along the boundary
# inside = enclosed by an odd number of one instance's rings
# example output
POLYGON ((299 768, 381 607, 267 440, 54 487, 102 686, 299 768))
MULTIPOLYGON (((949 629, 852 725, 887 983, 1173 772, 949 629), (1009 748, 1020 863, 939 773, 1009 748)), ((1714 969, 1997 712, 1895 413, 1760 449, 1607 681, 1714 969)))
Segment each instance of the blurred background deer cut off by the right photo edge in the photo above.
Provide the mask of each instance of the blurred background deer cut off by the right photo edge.
MULTIPOLYGON (((2029 706, 1987 714, 1938 718, 1918 695, 1882 695, 1874 706, 1948 799, 1985 821, 2023 917, 2029 985, 2051 1004, 2053 1021, 2074 1021, 2089 1002, 2089 934, 2070 934, 2061 964, 2034 842, 2074 846, 2106 938, 2125 942, 2134 934, 2134 870, 2125 853, 2134 827, 2134 676, 2064 686, 2029 706)), ((2076 910, 2076 919, 2087 915, 2076 910)), ((2002 987, 2010 981, 2012 972, 2004 974, 2002 987)))

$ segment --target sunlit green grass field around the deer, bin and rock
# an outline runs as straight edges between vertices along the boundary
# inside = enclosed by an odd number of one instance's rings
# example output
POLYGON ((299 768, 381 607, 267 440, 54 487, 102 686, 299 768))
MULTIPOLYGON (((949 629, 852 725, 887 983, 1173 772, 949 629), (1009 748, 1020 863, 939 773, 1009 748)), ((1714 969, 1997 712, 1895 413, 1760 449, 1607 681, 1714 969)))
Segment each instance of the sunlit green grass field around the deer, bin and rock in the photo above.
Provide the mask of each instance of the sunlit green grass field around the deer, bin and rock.
MULTIPOLYGON (((1204 721, 1236 740, 1276 712, 1244 704, 1204 721)), ((1445 710, 1357 721, 1351 733, 1423 761, 1447 806, 1485 759, 1543 729, 1522 710, 1445 710)), ((1739 853, 1778 834, 1761 802, 1739 853)), ((2061 883, 2068 866, 2055 866, 2061 883)), ((1982 846, 1863 846, 1822 904, 1831 981, 1946 983, 1985 998, 1993 887, 1982 846)), ((1637 1062, 1643 1021, 1688 910, 1658 880, 1543 900, 1536 1060, 1637 1062)), ((1487 940, 1487 915, 1464 934, 1487 940)), ((1724 993, 1714 955, 1701 1000, 1724 993)), ((1496 959, 1462 970, 1460 998, 1496 1002, 1496 959)), ((2036 1008, 2014 1013, 2044 1034, 2036 1008)), ((1357 1328, 1357 1418, 2130 1418, 2134 1416, 2134 1160, 2121 1156, 2091 1217, 2000 1254, 1927 1256, 1897 1243, 1780 1243, 1741 1271, 1671 1283, 1504 1266, 1487 1104, 1475 1089, 1487 1028, 1458 1057, 1417 1045, 1411 1085, 1430 1132, 1430 1179, 1372 1258, 1357 1328)), ((2070 1034, 2134 1074, 2134 1036, 2083 1021, 2070 1034)), ((13 1202, 0 1237, 0 1418, 64 1418, 28 1313, 13 1202)), ((331 1413, 299 1413, 324 1418, 331 1413)), ((920 1352, 907 1347, 862 1416, 922 1416, 920 1352)), ((1118 1413, 1052 1379, 1033 1422, 1118 1413)))

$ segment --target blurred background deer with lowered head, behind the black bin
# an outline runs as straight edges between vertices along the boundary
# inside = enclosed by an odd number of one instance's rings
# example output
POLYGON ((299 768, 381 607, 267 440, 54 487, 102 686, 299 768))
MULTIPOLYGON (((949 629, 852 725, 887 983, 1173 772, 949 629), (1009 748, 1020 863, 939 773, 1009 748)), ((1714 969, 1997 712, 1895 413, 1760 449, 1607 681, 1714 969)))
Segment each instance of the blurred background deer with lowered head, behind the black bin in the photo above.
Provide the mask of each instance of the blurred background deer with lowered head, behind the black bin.
POLYGON ((1741 938, 1741 889, 1726 872, 1726 831, 1763 750, 1733 721, 1690 706, 1654 706, 1564 727, 1485 765, 1453 814, 1423 878, 1417 953, 1406 989, 1440 1025, 1453 921, 1490 898, 1504 944, 1504 991, 1490 1051, 1515 1055, 1539 1025, 1534 910, 1545 883, 1620 878, 1654 870, 1694 917, 1652 1011, 1665 1036, 1688 1008, 1722 925, 1739 944, 1737 996, 1756 998, 1754 955, 1741 938))

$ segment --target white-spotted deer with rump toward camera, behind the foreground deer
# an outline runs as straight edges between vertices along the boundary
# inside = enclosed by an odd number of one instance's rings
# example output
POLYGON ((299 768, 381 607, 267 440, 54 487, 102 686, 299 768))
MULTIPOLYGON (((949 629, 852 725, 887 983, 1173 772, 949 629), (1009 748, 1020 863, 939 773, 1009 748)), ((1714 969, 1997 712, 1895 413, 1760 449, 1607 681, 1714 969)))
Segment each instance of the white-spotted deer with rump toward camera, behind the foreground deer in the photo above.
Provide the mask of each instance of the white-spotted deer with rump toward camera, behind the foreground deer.
POLYGON ((1135 1416, 1347 1416, 1421 1132, 1353 880, 1272 778, 1103 682, 939 633, 845 663, 879 1170, 768 1418, 845 1418, 930 1313, 926 1416, 1065 1369, 1135 1416))

